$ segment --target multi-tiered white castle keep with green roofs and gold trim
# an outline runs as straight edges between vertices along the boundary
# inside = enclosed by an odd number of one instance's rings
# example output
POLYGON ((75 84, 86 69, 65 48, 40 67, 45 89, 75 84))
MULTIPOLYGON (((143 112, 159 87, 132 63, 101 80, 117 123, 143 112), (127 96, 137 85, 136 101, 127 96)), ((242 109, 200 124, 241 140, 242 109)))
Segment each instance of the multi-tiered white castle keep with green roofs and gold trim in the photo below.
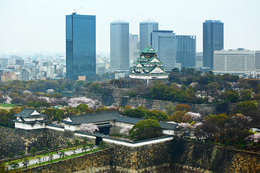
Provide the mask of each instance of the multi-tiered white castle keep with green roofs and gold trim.
POLYGON ((168 78, 170 73, 165 72, 166 67, 162 66, 164 64, 157 57, 152 46, 145 47, 144 50, 140 51, 140 58, 134 62, 134 66, 131 67, 132 72, 129 73, 130 78, 135 79, 147 79, 147 85, 149 79, 163 79, 168 78))

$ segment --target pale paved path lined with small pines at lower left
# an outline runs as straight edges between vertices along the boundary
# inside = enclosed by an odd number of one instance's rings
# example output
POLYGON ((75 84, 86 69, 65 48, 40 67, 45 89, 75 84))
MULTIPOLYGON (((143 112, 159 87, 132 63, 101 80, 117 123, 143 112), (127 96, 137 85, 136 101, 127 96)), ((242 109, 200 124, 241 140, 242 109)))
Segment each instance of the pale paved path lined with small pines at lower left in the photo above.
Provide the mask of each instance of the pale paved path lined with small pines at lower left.
MULTIPOLYGON (((97 148, 98 148, 98 145, 95 145, 95 146, 94 146, 94 149, 97 149, 97 148)), ((82 148, 77 149, 77 150, 76 150, 76 154, 82 153, 82 150, 81 150, 81 149, 82 149, 82 148)), ((90 151, 90 149, 87 149, 86 151, 90 151)), ((83 152, 85 152, 85 150, 84 150, 83 152)), ((71 155, 71 154, 73 154, 73 151, 70 150, 70 151, 66 151, 65 153, 66 153, 67 155, 71 155)), ((48 161, 49 156, 46 154, 46 156, 42 157, 42 158, 41 158, 41 163, 44 163, 44 162, 46 161, 45 158, 46 158, 46 160, 48 161), (44 161, 43 161, 43 158, 44 158, 44 161)), ((53 160, 53 159, 58 159, 58 158, 60 158, 60 155, 58 155, 57 153, 56 153, 56 154, 53 154, 52 160, 53 160)), ((49 160, 50 160, 50 159, 49 159, 49 160)), ((30 163, 29 163, 27 166, 29 166, 29 165, 34 165, 34 164, 36 164, 36 163, 39 164, 38 158, 35 158, 35 159, 30 160, 30 163)), ((18 164, 19 164, 19 168, 22 168, 22 167, 24 166, 24 164, 22 164, 22 162, 19 162, 18 164)), ((11 169, 10 166, 9 166, 9 169, 11 169)), ((13 168, 12 168, 12 169, 13 169, 13 168)))

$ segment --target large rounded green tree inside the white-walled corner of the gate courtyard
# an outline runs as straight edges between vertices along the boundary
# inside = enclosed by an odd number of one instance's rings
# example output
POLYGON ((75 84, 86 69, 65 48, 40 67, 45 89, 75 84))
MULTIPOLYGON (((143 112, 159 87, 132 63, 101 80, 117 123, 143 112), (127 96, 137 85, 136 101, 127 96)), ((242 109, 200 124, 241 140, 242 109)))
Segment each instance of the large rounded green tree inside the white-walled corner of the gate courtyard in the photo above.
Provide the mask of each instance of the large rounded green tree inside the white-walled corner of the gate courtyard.
POLYGON ((130 139, 138 141, 160 137, 160 127, 157 120, 141 120, 129 130, 130 139))

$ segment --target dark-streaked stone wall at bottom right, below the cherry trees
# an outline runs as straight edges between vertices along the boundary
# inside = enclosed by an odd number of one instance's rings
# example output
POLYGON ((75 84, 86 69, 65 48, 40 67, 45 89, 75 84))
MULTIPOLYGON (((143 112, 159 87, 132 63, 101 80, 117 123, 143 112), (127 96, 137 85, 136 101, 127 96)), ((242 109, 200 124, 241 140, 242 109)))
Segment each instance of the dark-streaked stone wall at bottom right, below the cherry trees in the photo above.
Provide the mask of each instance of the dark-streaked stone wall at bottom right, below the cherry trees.
POLYGON ((260 172, 260 153, 175 138, 172 172, 260 172))

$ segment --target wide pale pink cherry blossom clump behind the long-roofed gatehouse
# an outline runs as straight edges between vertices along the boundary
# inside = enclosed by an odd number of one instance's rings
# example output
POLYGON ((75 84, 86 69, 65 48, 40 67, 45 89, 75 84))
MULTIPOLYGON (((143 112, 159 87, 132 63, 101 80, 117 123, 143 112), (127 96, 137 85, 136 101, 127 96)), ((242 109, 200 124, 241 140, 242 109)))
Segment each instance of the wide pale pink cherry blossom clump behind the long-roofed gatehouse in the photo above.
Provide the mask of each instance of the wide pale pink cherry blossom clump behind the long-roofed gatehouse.
POLYGON ((86 97, 79 97, 79 98, 71 98, 69 100, 68 106, 77 107, 77 105, 79 105, 81 103, 87 104, 89 106, 89 109, 93 109, 93 110, 95 110, 96 108, 98 108, 101 105, 101 102, 99 102, 97 100, 92 100, 92 99, 86 98, 86 97))

